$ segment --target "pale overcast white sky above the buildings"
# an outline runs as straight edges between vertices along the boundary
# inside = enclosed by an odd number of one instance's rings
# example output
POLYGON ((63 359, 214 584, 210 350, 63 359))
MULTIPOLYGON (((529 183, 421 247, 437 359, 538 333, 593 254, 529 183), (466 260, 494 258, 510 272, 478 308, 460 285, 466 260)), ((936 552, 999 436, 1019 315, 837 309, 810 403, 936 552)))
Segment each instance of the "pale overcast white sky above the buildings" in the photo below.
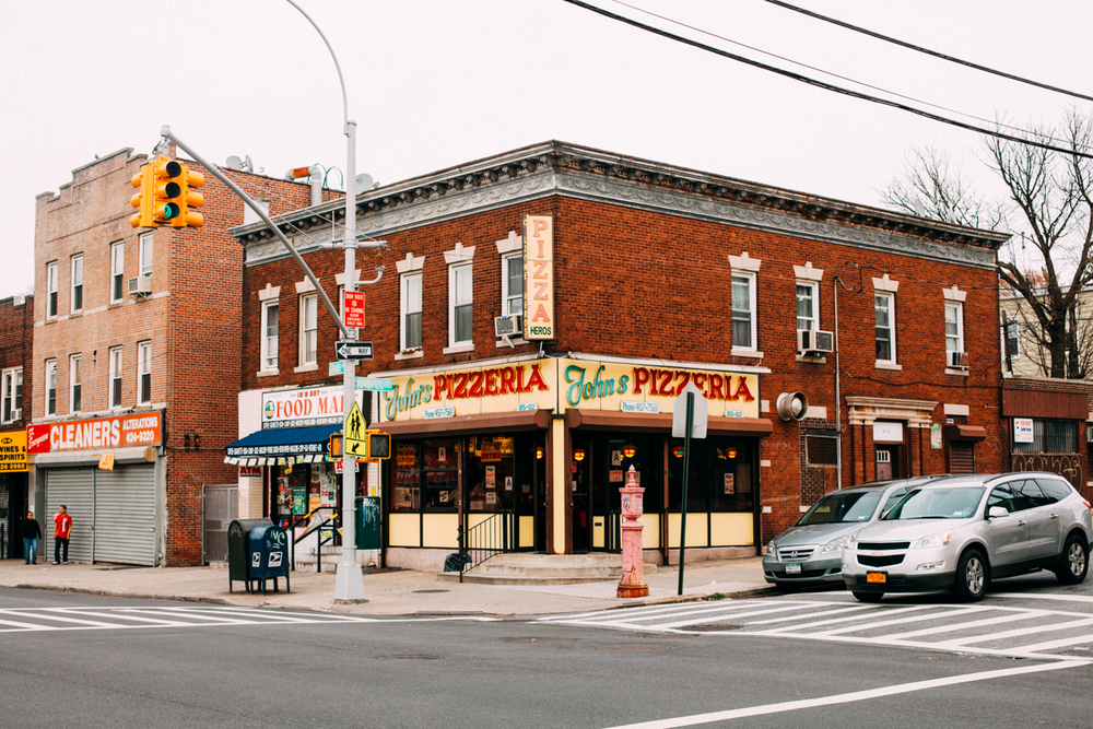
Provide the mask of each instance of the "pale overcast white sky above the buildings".
MULTIPOLYGON (((838 96, 562 0, 297 0, 338 58, 357 172, 396 183, 560 139, 880 205, 914 148, 999 193, 972 132, 838 96)), ((613 0, 595 4, 775 66, 613 0)), ((1055 124, 1093 104, 896 48, 763 0, 627 0, 708 33, 986 119, 1055 124)), ((928 48, 1093 92, 1093 3, 800 0, 928 48)), ((0 0, 0 297, 34 282, 34 198, 161 126, 223 164, 343 168, 330 56, 284 0, 0 0), (185 15, 177 14, 185 10, 185 15)), ((815 72, 797 68, 802 73, 815 72)), ((828 79, 830 80, 830 79, 828 79)), ((837 82, 845 83, 845 82, 837 82)), ((922 105, 919 105, 922 106, 922 105)), ((925 108, 925 106, 924 106, 925 108)), ((947 116, 951 113, 942 111, 947 116)))

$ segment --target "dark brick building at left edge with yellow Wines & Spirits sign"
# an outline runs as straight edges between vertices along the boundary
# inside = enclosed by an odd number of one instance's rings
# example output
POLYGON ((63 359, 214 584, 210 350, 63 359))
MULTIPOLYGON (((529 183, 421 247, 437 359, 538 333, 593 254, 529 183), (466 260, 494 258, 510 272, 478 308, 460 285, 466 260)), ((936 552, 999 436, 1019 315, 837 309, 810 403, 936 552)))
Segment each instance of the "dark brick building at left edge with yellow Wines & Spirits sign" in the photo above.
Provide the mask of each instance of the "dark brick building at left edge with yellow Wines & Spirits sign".
POLYGON ((0 558, 23 556, 20 526, 28 510, 26 423, 34 343, 34 296, 0 299, 0 558))

